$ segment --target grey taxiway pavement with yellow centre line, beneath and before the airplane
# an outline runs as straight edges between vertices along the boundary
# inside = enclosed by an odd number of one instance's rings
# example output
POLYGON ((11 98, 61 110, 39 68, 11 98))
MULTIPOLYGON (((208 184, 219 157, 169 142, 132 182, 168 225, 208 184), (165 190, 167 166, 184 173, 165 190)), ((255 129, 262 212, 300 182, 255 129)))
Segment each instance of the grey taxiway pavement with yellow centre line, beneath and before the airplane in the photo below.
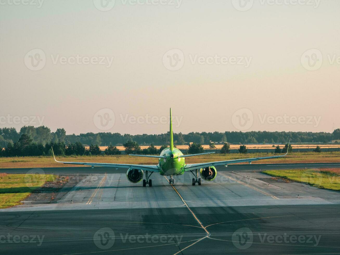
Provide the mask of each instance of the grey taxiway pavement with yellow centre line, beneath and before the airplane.
POLYGON ((1 209, 0 252, 340 253, 339 192, 249 169, 201 186, 192 177, 175 176, 172 187, 154 173, 153 187, 142 187, 125 172, 92 172, 58 201, 1 209))

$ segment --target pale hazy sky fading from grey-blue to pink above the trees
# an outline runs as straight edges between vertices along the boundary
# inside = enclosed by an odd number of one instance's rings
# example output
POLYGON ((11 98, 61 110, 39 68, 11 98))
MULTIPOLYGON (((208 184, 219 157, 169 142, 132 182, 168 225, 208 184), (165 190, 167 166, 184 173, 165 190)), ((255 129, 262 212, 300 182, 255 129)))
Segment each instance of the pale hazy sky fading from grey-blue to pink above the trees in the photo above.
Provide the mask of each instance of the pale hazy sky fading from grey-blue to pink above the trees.
POLYGON ((0 0, 0 127, 340 127, 339 0, 39 1, 0 0))

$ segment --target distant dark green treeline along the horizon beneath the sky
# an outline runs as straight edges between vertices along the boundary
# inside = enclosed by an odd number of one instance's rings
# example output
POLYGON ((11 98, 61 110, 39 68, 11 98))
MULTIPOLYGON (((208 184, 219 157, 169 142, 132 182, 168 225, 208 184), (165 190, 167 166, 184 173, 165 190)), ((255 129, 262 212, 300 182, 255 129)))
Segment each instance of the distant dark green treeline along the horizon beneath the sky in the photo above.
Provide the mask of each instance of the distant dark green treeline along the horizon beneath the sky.
MULTIPOLYGON (((66 135, 65 129, 57 129, 56 132, 46 126, 23 126, 19 132, 15 128, 0 128, 0 147, 7 147, 8 143, 15 143, 21 135, 29 135, 36 144, 45 146, 47 143, 64 142, 66 145, 79 142, 83 145, 96 144, 99 146, 122 146, 127 141, 137 142, 139 145, 164 145, 169 143, 169 132, 158 135, 129 135, 120 133, 86 133, 80 135, 66 135)), ((209 144, 212 142, 229 143, 286 143, 290 140, 293 143, 300 142, 330 142, 331 140, 340 139, 340 129, 332 133, 325 132, 267 132, 267 131, 250 131, 250 132, 191 132, 188 134, 174 133, 175 145, 184 145, 189 142, 209 144)))

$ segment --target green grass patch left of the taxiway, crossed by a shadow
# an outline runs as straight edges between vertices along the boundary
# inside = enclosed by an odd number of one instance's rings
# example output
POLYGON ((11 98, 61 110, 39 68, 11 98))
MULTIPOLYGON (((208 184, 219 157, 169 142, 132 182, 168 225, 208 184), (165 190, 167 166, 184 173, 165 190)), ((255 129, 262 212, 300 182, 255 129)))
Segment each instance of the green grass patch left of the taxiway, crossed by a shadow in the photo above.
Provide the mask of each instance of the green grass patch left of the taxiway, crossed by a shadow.
POLYGON ((54 181, 51 174, 3 174, 0 173, 0 208, 21 204, 35 189, 45 182, 54 181))

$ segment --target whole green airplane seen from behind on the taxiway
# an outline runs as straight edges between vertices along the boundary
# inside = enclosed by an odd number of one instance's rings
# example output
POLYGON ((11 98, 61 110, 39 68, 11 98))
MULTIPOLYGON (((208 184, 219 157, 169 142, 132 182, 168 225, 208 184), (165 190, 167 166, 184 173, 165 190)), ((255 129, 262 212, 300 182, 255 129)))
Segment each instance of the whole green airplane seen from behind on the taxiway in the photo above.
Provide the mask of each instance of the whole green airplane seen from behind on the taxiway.
MULTIPOLYGON (((289 143, 288 143, 289 148, 289 143)), ((52 148, 53 152, 53 148, 52 148)), ((196 183, 201 185, 201 179, 205 181, 212 181, 215 179, 217 175, 217 170, 215 166, 224 165, 227 167, 228 164, 235 164, 241 162, 251 162, 261 159, 269 159, 269 158, 279 158, 284 157, 288 154, 288 150, 284 155, 278 156, 268 156, 268 157, 257 157, 257 158, 244 158, 244 159, 233 159, 233 160, 225 160, 225 161, 216 161, 216 162, 207 162, 207 163, 198 163, 198 164, 185 164, 186 157, 198 156, 198 155, 205 155, 211 154, 215 152, 206 152, 206 153, 198 153, 198 154, 189 154, 183 155, 183 153, 174 147, 173 145, 173 133, 172 133, 172 115, 171 115, 171 108, 170 108, 170 147, 164 149, 159 156, 155 155, 135 155, 129 154, 130 156, 138 156, 138 157, 153 157, 158 158, 157 165, 134 165, 134 164, 112 164, 112 163, 87 163, 87 162, 62 162, 57 161, 54 156, 54 160, 58 163, 63 164, 73 164, 73 165, 84 165, 84 166, 95 166, 100 167, 115 167, 116 170, 118 168, 129 168, 126 172, 126 177, 131 183, 139 183, 143 180, 143 187, 146 187, 148 184, 149 187, 152 187, 152 180, 150 179, 151 174, 159 173, 160 175, 170 176, 169 184, 174 184, 173 176, 182 175, 185 172, 191 172, 194 175, 192 178, 192 185, 194 186, 196 183), (143 179, 145 171, 145 179, 143 179), (149 174, 150 172, 150 174, 149 174), (198 172, 200 172, 200 177, 198 176, 198 172)))

